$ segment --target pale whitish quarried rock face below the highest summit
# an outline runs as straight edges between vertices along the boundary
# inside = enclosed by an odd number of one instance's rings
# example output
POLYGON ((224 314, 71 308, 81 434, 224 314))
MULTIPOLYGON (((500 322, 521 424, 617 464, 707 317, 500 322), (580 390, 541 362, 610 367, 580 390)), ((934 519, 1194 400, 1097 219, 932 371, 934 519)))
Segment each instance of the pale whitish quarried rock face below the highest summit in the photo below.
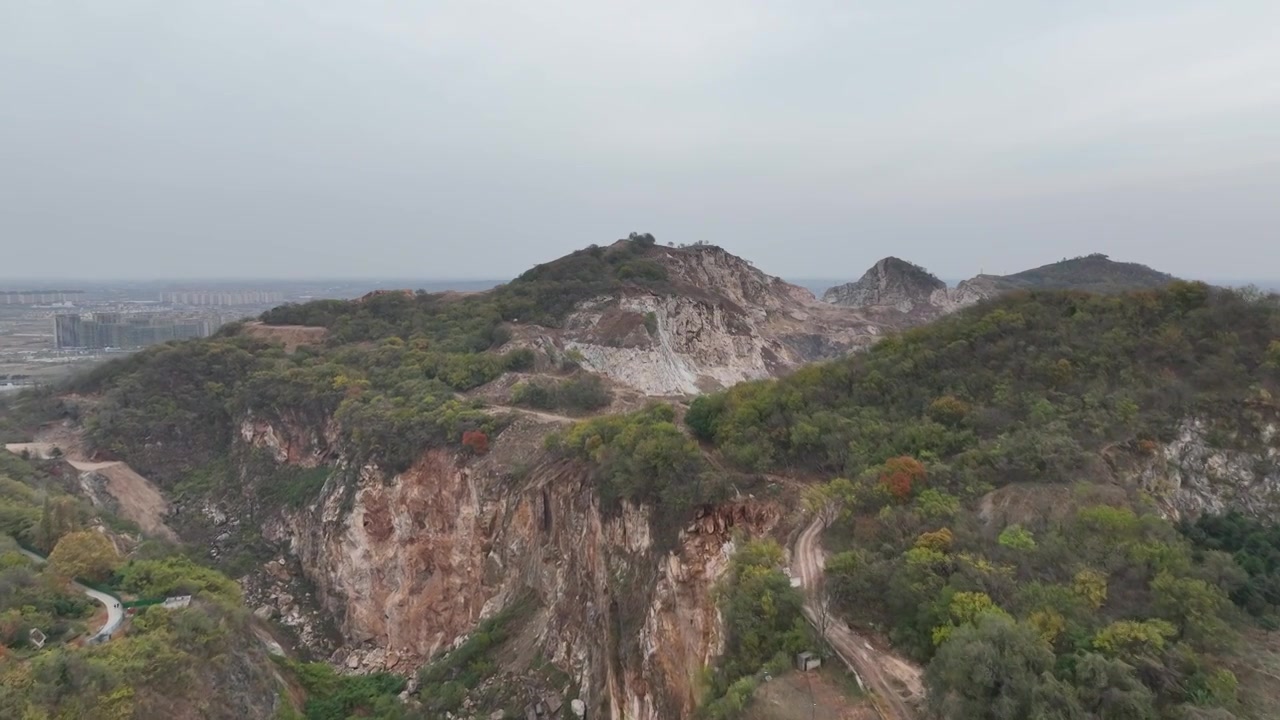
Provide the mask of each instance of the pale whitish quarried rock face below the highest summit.
POLYGON ((579 306, 559 333, 525 342, 572 351, 646 395, 692 395, 774 377, 865 347, 881 323, 818 302, 713 246, 663 250, 673 291, 628 290, 579 306))

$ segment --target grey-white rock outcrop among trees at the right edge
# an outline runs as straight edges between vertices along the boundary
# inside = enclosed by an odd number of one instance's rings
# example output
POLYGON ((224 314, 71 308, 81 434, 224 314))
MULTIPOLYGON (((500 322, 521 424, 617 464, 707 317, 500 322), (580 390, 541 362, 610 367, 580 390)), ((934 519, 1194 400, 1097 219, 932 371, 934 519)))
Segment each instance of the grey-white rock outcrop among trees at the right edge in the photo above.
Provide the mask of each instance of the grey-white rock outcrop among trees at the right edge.
POLYGON ((1203 418, 1181 423, 1167 443, 1138 443, 1107 456, 1117 475, 1148 492, 1170 519, 1239 510, 1280 512, 1280 423, 1252 418, 1235 433, 1203 418))

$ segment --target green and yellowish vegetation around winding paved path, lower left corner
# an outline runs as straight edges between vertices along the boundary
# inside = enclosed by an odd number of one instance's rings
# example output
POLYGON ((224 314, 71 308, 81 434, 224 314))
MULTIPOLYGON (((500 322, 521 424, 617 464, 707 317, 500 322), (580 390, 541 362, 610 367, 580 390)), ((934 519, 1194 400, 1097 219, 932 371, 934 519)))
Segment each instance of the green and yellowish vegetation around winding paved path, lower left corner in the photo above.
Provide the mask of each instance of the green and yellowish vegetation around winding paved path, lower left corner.
MULTIPOLYGON (((151 546, 122 565, 100 518, 60 489, 64 465, 0 452, 0 717, 207 717, 274 712, 282 688, 239 588, 151 546), (13 539, 18 538, 18 539, 13 539), (50 552, 37 564, 18 543, 50 552), (108 643, 81 644, 101 607, 69 584, 95 575, 123 593, 193 593, 191 607, 147 607, 108 643), (35 648, 29 630, 46 635, 35 648)), ((280 705, 284 707, 285 705, 280 705)))

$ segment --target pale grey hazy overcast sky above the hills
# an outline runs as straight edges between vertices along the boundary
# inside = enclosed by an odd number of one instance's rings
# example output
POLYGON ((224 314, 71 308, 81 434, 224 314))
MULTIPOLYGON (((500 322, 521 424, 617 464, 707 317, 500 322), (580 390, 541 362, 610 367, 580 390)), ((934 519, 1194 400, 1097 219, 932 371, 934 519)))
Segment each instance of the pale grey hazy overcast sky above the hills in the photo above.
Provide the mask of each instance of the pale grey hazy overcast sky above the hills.
POLYGON ((511 277, 631 231, 1280 275, 1280 3, 0 0, 0 277, 511 277))

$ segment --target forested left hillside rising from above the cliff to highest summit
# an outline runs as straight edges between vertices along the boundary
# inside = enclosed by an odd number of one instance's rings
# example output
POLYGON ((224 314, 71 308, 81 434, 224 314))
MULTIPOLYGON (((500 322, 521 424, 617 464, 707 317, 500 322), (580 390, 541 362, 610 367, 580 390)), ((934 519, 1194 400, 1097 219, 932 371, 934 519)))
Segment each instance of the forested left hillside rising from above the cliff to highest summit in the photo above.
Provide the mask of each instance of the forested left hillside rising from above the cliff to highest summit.
MULTIPOLYGON (((645 258, 653 246, 652 236, 632 236, 581 250, 474 296, 385 292, 287 305, 264 320, 321 325, 328 341, 287 354, 230 325, 215 338, 109 363, 73 389, 102 395, 87 424, 93 448, 161 482, 221 460, 244 416, 311 427, 337 420, 347 460, 397 471, 428 447, 500 428, 458 393, 532 365, 529 350, 499 350, 504 322, 554 325, 585 297, 662 283, 663 268, 645 258)), ((600 395, 585 402, 599 404, 600 395)))

